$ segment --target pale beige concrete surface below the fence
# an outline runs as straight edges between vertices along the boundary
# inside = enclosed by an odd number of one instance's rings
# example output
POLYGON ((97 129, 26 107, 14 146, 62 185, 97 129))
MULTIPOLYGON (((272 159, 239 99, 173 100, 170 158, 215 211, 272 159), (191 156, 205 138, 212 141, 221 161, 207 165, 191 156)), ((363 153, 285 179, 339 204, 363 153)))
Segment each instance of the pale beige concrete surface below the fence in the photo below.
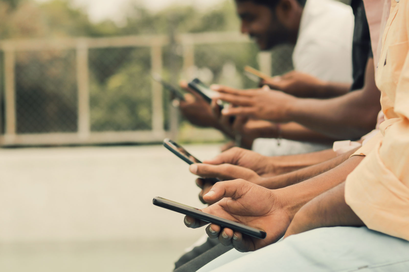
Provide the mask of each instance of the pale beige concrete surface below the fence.
POLYGON ((0 271, 171 271, 204 230, 152 199, 201 208, 194 180, 163 146, 0 149, 0 271))

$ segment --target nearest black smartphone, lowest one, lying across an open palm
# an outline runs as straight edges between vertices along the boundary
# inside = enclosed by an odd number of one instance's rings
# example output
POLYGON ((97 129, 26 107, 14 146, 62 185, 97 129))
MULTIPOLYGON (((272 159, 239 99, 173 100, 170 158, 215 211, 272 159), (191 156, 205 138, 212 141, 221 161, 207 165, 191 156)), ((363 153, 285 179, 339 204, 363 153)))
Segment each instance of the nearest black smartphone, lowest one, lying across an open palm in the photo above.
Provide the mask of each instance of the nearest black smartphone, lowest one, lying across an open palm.
POLYGON ((263 230, 258 230, 256 228, 251 228, 249 226, 236 223, 231 220, 227 220, 215 215, 209 215, 208 213, 202 212, 199 209, 171 201, 169 199, 164 199, 162 197, 155 197, 153 199, 153 205, 168 209, 168 210, 173 210, 174 212, 179 212, 184 215, 189 215, 193 218, 200 219, 209 223, 214 223, 220 227, 223 228, 230 228, 232 230, 241 232, 243 234, 256 237, 258 239, 264 239, 266 237, 266 233, 263 230))

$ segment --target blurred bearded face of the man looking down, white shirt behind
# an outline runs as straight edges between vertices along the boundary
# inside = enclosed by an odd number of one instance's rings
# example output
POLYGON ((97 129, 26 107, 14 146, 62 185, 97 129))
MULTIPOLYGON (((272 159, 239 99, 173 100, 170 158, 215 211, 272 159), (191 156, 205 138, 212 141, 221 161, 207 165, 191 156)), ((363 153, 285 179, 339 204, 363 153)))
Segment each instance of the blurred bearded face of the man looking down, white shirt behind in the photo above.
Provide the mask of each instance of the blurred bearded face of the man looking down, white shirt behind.
POLYGON ((281 24, 275 11, 252 1, 236 1, 241 32, 254 38, 260 50, 288 42, 288 29, 281 24))

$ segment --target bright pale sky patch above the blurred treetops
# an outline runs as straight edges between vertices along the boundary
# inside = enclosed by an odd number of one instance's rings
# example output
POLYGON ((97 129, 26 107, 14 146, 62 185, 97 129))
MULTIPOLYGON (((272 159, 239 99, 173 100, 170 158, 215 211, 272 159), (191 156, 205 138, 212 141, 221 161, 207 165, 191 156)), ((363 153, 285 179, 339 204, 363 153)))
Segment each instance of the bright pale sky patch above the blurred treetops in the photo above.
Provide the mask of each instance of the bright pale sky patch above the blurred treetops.
MULTIPOLYGON (((47 2, 49 0, 36 0, 37 2, 47 2)), ((144 4, 154 11, 167 7, 170 4, 191 4, 197 7, 211 7, 222 0, 72 0, 75 6, 83 7, 88 11, 90 20, 99 22, 104 19, 111 19, 121 22, 126 14, 126 7, 130 4, 144 4)))

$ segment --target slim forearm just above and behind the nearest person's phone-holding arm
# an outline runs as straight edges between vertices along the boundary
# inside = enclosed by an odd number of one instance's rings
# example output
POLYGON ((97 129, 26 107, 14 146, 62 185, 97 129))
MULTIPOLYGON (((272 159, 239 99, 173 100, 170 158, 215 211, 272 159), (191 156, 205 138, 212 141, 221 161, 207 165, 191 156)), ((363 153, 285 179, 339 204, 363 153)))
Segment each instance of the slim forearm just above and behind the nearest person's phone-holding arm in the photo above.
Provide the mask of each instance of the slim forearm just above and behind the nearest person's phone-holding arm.
MULTIPOLYGON (((321 162, 319 164, 315 164, 312 166, 308 166, 306 168, 302 168, 293 172, 285 173, 282 175, 278 175, 275 177, 265 178, 263 186, 266 188, 284 188, 287 186, 291 186, 293 184, 297 184, 300 181, 304 181, 306 179, 310 179, 312 177, 316 177, 322 173, 327 171, 332 171, 343 164, 345 161, 349 160, 349 157, 357 150, 351 150, 346 152, 342 155, 329 159, 328 161, 321 162)), ((351 158, 352 159, 352 158, 351 158)))

